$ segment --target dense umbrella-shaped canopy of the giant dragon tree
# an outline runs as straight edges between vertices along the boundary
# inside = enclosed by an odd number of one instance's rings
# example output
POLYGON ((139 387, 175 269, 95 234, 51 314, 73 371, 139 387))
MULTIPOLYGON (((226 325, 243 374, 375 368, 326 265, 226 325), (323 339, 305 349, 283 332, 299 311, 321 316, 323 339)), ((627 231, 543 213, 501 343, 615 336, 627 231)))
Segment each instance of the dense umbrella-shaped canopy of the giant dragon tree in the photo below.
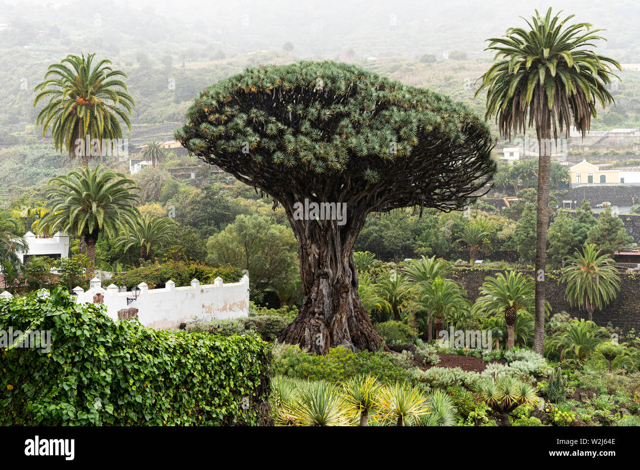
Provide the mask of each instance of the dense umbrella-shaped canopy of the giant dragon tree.
POLYGON ((187 119, 175 137, 189 152, 280 203, 449 211, 495 173, 490 130, 465 104, 333 61, 246 68, 200 91, 187 119))

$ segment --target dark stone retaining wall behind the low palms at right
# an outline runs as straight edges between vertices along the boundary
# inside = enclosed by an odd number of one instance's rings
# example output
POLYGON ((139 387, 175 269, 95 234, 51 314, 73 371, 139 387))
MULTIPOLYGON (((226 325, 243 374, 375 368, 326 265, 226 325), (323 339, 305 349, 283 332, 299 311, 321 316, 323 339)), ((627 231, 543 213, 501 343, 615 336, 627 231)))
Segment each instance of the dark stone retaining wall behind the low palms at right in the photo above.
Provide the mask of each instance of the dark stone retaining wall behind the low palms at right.
MULTIPOLYGON (((500 269, 480 269, 460 267, 455 271, 455 278, 467 290, 467 299, 475 302, 479 297, 479 288, 487 276, 495 276, 500 269)), ((523 271, 533 277, 532 270, 523 271)), ((585 310, 571 307, 564 300, 565 284, 559 284, 559 271, 547 273, 547 300, 551 304, 552 313, 567 311, 573 317, 586 318, 585 310)), ((609 322, 614 327, 625 332, 630 329, 640 331, 640 274, 620 274, 620 292, 618 297, 602 311, 593 312, 593 321, 598 326, 605 326, 609 322)))

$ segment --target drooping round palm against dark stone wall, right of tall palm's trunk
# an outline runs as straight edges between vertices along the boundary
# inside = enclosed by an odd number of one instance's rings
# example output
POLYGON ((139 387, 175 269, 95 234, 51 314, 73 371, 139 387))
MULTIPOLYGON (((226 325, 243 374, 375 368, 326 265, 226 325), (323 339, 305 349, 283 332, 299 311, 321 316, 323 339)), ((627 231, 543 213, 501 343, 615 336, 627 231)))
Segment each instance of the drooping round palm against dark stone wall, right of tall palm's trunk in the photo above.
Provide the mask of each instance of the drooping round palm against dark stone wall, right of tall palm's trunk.
POLYGON ((606 253, 600 255, 601 251, 595 244, 584 244, 582 253, 576 250, 568 257, 560 276, 560 282, 567 283, 564 298, 571 306, 586 308, 590 321, 593 321, 593 310, 602 310, 620 290, 613 260, 606 253))

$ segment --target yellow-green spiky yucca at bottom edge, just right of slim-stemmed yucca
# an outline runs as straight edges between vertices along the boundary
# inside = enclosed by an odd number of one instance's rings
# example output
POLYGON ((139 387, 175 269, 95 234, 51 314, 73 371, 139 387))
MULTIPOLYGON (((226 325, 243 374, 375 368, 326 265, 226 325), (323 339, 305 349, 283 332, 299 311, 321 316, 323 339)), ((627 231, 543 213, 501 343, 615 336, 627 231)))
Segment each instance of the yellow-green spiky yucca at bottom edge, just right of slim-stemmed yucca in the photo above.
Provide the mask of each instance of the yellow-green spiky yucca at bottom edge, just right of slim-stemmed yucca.
POLYGON ((396 426, 418 424, 419 416, 429 411, 428 399, 419 389, 406 383, 386 386, 380 393, 380 416, 396 421, 396 426))

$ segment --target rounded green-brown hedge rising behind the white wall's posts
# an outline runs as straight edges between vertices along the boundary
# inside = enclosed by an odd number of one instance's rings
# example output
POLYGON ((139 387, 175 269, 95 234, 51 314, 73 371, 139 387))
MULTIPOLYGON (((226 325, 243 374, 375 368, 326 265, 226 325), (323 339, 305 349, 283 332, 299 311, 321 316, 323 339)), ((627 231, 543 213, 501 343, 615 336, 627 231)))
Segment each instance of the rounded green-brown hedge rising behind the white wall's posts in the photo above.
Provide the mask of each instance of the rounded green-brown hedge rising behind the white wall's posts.
POLYGON ((116 286, 127 286, 131 289, 141 282, 145 282, 150 289, 160 289, 170 279, 175 282, 176 287, 180 287, 191 285, 192 279, 198 279, 201 284, 212 284, 214 279, 218 277, 222 278, 225 283, 236 283, 242 276, 242 270, 231 265, 211 267, 197 262, 170 261, 129 269, 112 279, 105 279, 102 281, 102 287, 113 283, 116 286))

